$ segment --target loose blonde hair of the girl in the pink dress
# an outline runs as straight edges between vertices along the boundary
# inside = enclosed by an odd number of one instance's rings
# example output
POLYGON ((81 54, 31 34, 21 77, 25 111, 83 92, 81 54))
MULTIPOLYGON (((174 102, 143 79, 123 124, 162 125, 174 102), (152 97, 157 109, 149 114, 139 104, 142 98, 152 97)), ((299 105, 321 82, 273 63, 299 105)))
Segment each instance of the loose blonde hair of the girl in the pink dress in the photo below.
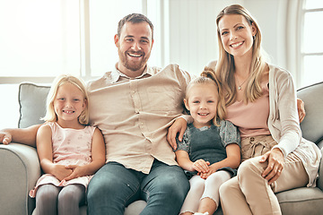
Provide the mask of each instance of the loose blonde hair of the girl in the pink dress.
MULTIPOLYGON (((84 100, 89 103, 89 96, 87 93, 87 90, 85 88, 84 82, 70 74, 61 74, 57 76, 57 78, 54 80, 52 83, 52 86, 48 92, 48 97, 47 97, 47 111, 46 115, 41 118, 42 120, 48 121, 48 122, 56 122, 57 121, 57 115, 54 110, 54 100, 57 97, 57 90, 60 86, 65 84, 66 82, 72 83, 75 87, 77 87, 79 90, 83 92, 84 100)), ((88 104, 84 108, 83 112, 81 115, 78 117, 78 121, 82 125, 88 125, 89 124, 89 108, 88 104)))

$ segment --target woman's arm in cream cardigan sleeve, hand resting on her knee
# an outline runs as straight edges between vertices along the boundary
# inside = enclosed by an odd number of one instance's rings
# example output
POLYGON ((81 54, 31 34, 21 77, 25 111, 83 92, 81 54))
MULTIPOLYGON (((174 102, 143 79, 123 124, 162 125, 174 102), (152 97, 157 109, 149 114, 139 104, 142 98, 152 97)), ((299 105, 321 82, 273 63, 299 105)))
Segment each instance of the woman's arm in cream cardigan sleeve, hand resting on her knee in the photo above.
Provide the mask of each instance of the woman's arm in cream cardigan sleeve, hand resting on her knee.
POLYGON ((301 103, 296 101, 296 90, 292 75, 275 68, 269 80, 269 100, 272 113, 268 127, 274 140, 278 143, 272 150, 262 156, 260 162, 268 162, 262 176, 269 184, 275 182, 284 168, 284 158, 297 148, 301 142, 301 103), (279 128, 279 129, 278 129, 279 128))

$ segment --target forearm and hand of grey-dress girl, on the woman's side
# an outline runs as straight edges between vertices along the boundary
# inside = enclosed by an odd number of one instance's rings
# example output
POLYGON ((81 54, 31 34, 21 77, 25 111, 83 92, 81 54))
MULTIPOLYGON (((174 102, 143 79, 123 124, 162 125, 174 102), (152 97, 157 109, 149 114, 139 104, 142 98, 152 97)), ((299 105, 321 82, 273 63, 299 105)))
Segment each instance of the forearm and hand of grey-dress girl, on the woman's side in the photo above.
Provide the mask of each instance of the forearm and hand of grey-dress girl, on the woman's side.
POLYGON ((216 172, 220 168, 238 168, 240 165, 240 146, 236 143, 231 143, 225 147, 227 158, 210 165, 208 171, 202 178, 206 178, 216 172))

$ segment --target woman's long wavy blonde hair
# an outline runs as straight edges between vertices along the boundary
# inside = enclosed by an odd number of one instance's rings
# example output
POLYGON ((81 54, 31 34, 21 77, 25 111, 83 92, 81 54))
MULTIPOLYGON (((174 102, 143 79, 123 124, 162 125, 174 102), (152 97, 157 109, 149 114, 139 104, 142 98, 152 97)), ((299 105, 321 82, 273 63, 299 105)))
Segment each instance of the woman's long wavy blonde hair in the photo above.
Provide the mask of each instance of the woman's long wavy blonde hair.
MULTIPOLYGON (((238 14, 242 15, 249 25, 252 24, 256 27, 256 35, 253 36, 253 46, 252 46, 252 60, 250 66, 250 75, 249 80, 246 84, 246 90, 244 94, 244 101, 253 102, 258 99, 262 95, 261 90, 261 79, 262 74, 266 70, 266 60, 265 60, 265 52, 261 47, 261 32, 258 27, 258 23, 251 16, 251 14, 241 5, 232 4, 230 6, 225 7, 216 17, 216 24, 219 26, 220 20, 224 15, 238 14)), ((219 60, 215 66, 215 76, 219 81, 220 86, 223 88, 225 106, 230 106, 233 102, 236 101, 237 98, 237 89, 234 78, 234 58, 229 53, 224 50, 221 32, 219 27, 217 29, 218 36, 218 45, 219 45, 219 60)), ((265 54, 266 55, 266 54, 265 54)))

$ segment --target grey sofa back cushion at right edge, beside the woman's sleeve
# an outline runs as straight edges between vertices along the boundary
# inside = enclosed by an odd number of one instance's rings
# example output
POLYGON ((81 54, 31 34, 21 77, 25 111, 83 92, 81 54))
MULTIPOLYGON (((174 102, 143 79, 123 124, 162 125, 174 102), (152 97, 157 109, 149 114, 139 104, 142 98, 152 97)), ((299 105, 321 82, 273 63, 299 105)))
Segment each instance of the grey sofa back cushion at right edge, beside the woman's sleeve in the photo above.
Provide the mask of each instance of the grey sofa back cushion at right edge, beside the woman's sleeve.
POLYGON ((302 136, 318 144, 323 138, 323 82, 297 90, 297 97, 305 103, 306 116, 301 122, 302 136))

